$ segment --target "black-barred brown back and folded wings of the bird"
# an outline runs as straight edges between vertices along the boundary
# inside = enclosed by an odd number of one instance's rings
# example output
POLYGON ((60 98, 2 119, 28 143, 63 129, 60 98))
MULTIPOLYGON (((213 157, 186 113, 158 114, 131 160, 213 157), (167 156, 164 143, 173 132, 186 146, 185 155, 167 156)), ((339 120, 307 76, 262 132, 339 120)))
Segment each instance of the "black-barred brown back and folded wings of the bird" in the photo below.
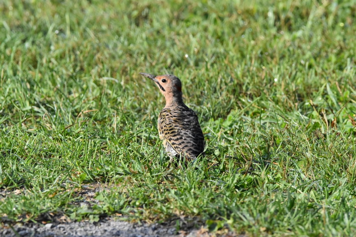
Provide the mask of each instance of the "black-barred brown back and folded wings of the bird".
POLYGON ((198 117, 186 109, 163 109, 158 119, 159 137, 180 155, 196 158, 204 151, 204 135, 198 117))

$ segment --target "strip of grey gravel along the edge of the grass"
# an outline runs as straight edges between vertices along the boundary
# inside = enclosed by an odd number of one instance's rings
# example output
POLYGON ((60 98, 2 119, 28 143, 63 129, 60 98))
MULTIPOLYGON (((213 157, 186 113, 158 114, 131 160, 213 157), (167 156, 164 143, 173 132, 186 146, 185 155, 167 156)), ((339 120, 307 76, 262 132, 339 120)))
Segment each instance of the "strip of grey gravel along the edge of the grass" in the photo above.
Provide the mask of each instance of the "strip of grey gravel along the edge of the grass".
MULTIPOLYGON (((209 233, 206 228, 197 228, 197 223, 186 224, 176 230, 175 221, 165 223, 131 223, 126 221, 106 218, 99 222, 67 222, 67 223, 17 223, 12 226, 3 225, 0 228, 0 236, 21 237, 208 237, 216 236, 209 233)), ((224 237, 236 236, 233 233, 224 233, 224 237)))

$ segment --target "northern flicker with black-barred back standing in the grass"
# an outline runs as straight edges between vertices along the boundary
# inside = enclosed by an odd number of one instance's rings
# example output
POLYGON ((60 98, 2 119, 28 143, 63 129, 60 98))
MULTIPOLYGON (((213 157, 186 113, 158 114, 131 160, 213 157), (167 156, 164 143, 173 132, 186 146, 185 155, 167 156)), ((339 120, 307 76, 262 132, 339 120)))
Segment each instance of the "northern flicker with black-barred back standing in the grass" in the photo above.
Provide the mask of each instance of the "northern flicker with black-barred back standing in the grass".
POLYGON ((197 114, 182 99, 182 83, 173 75, 153 76, 140 72, 156 82, 166 98, 166 106, 158 116, 158 133, 170 161, 182 157, 189 161, 204 152, 204 135, 197 114))

